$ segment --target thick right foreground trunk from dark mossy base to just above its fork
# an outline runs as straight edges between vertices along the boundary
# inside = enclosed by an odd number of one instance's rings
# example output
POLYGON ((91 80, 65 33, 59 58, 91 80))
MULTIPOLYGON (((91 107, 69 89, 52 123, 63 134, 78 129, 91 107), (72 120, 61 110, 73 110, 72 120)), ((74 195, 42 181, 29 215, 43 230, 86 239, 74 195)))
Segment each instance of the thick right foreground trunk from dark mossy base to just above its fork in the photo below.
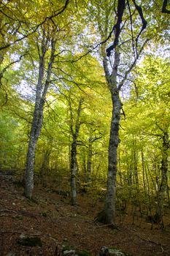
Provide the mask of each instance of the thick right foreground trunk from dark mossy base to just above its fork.
POLYGON ((115 48, 115 60, 112 67, 112 73, 110 73, 108 59, 106 57, 103 59, 103 64, 107 85, 112 97, 112 118, 109 135, 107 193, 104 211, 98 214, 97 219, 99 222, 115 225, 117 147, 119 144, 120 110, 122 108, 119 95, 120 88, 117 84, 117 68, 120 64, 120 53, 118 48, 115 48))

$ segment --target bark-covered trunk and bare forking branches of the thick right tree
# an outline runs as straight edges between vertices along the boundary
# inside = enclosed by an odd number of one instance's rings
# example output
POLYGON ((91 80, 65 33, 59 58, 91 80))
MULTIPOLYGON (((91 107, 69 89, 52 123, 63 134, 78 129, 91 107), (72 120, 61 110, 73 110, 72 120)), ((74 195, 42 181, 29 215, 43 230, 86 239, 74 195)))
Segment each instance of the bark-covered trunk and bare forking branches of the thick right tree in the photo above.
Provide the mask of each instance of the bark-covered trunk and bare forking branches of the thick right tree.
MULTIPOLYGON (((107 176, 107 195, 105 200, 104 211, 101 214, 98 214, 98 221, 105 222, 107 224, 115 224, 115 200, 116 200, 116 176, 117 176, 117 147, 119 144, 119 125, 120 125, 120 110, 122 104, 120 102, 120 89, 123 87, 125 80, 128 77, 128 74, 134 68, 139 55, 142 53, 144 45, 147 40, 144 42, 142 47, 139 50, 139 53, 136 54, 134 61, 131 63, 130 67, 124 72, 122 80, 120 80, 120 75, 117 72, 120 66, 120 34, 123 31, 122 21, 123 13, 125 10, 125 1, 118 0, 117 5, 115 4, 115 25, 112 27, 112 31, 108 31, 109 15, 106 9, 105 12, 105 22, 102 26, 100 20, 98 20, 98 29, 100 31, 101 38, 103 42, 101 44, 101 55, 103 56, 103 65, 104 73, 107 80, 107 86, 112 97, 112 120, 110 126, 110 137, 109 137, 109 154, 108 154, 108 176, 107 176), (109 36, 108 35, 109 32, 109 36), (114 34, 114 41, 112 45, 106 48, 107 40, 114 34), (107 52, 107 56, 106 56, 107 52), (112 58, 114 56, 114 58, 112 58), (108 58, 107 58, 108 57, 108 58), (112 60, 114 63, 112 64, 112 60)), ((142 8, 135 3, 136 10, 139 12, 140 18, 142 19, 142 29, 136 38, 139 38, 140 34, 146 27, 146 23, 143 17, 142 8)), ((114 8, 114 9, 115 9, 114 8)), ((108 8, 109 9, 109 8, 108 8)), ((100 15, 98 8, 98 15, 100 15)), ((137 44, 136 44, 137 48, 137 44)), ((136 49, 137 50, 137 49, 136 49)), ((131 61, 130 61, 131 62, 131 61)), ((120 69, 121 73, 121 69, 120 69)))

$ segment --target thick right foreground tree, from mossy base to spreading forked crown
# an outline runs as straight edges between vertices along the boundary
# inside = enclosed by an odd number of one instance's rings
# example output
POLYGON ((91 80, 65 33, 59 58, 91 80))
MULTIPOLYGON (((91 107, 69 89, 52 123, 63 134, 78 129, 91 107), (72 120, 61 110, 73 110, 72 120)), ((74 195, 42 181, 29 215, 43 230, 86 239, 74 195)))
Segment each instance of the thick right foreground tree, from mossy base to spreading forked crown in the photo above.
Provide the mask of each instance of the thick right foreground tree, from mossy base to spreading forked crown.
MULTIPOLYGON (((117 1, 117 10, 115 9, 115 4, 112 4, 109 1, 102 1, 102 4, 100 5, 98 1, 94 2, 97 10, 94 10, 94 12, 97 12, 96 20, 98 22, 98 31, 101 36, 101 56, 103 58, 104 73, 112 98, 112 119, 110 125, 108 152, 107 195, 104 211, 98 215, 98 220, 109 224, 115 224, 117 147, 120 142, 120 115, 121 110, 123 109, 123 104, 120 100, 120 90, 123 88, 125 80, 127 79, 131 70, 134 68, 136 61, 147 42, 147 40, 144 40, 142 45, 138 44, 138 39, 141 36, 142 31, 146 28, 147 21, 144 19, 142 7, 139 7, 136 4, 136 1, 133 1, 134 7, 130 7, 128 2, 128 11, 125 9, 125 1, 117 1), (142 29, 140 31, 135 31, 133 28, 131 8, 134 8, 138 12, 139 18, 142 20, 142 29), (113 17, 114 15, 115 17, 113 17), (112 26, 114 18, 115 25, 112 26), (112 29, 110 29, 110 26, 112 26, 112 29), (125 34, 125 31, 129 31, 129 27, 131 28, 131 35, 130 37, 127 37, 127 33, 125 34), (107 48, 106 42, 110 37, 112 37, 112 34, 114 34, 115 37, 114 42, 109 46, 109 48, 107 48), (136 46, 134 38, 136 38, 136 46), (134 59, 131 61, 125 61, 125 58, 128 56, 127 48, 128 50, 131 49, 129 42, 132 44, 132 55, 134 56, 134 59), (125 54, 124 56, 121 56, 121 53, 123 55, 124 50, 125 54)), ((136 19, 137 18, 138 17, 136 17, 136 19)))

